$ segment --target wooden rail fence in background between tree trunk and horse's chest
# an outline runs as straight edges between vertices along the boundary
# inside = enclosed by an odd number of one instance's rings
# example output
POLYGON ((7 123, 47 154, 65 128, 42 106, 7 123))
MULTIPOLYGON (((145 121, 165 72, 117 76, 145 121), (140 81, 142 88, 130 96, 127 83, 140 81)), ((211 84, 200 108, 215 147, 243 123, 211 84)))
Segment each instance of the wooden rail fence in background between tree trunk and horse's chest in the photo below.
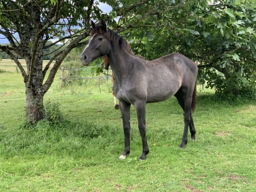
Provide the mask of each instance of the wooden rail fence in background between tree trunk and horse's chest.
POLYGON ((65 69, 63 66, 61 67, 61 77, 60 77, 60 87, 63 86, 64 81, 71 82, 72 80, 97 80, 99 84, 99 80, 107 81, 112 77, 111 70, 105 70, 102 75, 94 77, 91 75, 91 69, 65 69))

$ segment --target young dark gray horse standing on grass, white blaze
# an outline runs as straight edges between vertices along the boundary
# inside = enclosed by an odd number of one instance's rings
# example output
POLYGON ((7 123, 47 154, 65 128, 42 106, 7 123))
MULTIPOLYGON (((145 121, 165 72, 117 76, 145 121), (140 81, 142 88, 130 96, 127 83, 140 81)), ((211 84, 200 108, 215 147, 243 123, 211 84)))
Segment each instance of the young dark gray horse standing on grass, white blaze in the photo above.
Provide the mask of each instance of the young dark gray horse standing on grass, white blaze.
POLYGON ((124 152, 119 157, 126 158, 130 151, 130 106, 137 111, 138 127, 143 144, 140 159, 149 153, 146 140, 146 103, 164 101, 176 96, 184 110, 184 133, 181 147, 187 145, 188 128, 191 139, 195 139, 192 111, 195 110, 197 66, 184 55, 173 53, 153 61, 146 61, 134 55, 127 41, 107 28, 104 21, 93 30, 89 43, 80 55, 83 65, 107 55, 116 80, 113 92, 120 101, 124 126, 124 152))

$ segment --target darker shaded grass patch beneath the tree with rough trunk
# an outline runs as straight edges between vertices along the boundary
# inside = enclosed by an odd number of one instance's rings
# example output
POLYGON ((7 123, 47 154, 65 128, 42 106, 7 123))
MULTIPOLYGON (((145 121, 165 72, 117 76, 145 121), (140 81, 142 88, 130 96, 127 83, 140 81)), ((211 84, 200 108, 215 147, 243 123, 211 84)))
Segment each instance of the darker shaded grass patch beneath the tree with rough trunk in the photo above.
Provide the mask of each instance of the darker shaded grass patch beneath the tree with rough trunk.
POLYGON ((40 120, 34 125, 20 126, 13 134, 1 134, 1 153, 5 158, 20 155, 56 155, 74 158, 90 157, 113 146, 123 135, 116 129, 89 122, 63 120, 52 123, 40 120))

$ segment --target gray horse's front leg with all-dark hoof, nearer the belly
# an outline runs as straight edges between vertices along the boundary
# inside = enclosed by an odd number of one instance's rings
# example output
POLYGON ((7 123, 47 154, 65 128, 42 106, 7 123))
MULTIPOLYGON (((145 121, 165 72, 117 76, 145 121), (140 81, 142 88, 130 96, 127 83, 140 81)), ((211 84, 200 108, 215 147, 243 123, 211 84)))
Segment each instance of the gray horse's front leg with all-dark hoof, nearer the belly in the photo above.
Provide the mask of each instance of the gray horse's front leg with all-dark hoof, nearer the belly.
POLYGON ((138 117, 138 127, 140 130, 140 136, 142 140, 143 150, 140 160, 146 159, 146 155, 149 153, 148 142, 146 139, 146 102, 140 101, 135 103, 135 108, 138 117))

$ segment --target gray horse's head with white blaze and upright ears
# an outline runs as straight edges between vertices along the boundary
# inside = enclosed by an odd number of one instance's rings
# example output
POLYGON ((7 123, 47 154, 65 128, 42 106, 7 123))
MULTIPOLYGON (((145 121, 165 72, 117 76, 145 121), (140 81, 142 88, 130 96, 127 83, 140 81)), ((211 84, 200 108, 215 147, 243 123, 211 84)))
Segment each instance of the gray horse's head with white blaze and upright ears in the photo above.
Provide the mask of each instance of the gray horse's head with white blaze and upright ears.
POLYGON ((83 65, 89 65, 91 61, 107 55, 110 51, 110 42, 108 40, 108 28, 106 23, 102 20, 101 26, 96 26, 91 21, 92 31, 89 38, 89 43, 80 55, 80 61, 83 65))

